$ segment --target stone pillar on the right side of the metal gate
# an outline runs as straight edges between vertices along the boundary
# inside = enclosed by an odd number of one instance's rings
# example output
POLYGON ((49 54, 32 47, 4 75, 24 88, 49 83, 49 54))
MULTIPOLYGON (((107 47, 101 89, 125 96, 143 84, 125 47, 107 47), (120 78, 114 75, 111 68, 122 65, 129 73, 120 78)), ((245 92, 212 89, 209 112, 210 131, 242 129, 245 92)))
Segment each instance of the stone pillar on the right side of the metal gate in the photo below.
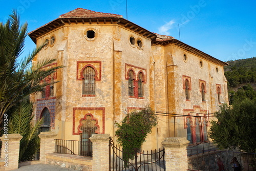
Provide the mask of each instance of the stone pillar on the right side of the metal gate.
POLYGON ((185 137, 165 138, 162 142, 165 148, 166 171, 187 170, 187 151, 189 141, 185 137))

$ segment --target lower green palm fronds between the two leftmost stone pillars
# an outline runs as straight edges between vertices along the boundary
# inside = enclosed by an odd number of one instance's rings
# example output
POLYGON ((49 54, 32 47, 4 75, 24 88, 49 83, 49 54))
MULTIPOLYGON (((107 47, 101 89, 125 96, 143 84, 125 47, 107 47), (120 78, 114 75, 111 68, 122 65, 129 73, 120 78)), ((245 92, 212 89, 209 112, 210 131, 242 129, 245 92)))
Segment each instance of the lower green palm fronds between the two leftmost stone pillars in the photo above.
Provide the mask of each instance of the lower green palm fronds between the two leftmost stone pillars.
POLYGON ((12 113, 8 124, 9 134, 20 134, 23 136, 20 140, 19 161, 30 161, 33 155, 39 150, 40 139, 38 132, 42 120, 38 120, 35 125, 31 123, 33 116, 33 103, 29 100, 23 100, 10 109, 12 113))

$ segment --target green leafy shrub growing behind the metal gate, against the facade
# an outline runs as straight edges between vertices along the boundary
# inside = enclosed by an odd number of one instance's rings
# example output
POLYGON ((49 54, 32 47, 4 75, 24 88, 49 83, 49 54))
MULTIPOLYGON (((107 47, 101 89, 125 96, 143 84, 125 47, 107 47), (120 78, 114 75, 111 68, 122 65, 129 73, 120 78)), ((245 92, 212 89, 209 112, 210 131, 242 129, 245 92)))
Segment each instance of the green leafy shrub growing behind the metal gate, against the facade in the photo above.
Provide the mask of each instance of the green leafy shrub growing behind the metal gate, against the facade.
POLYGON ((147 134, 152 132, 152 127, 157 125, 157 117, 154 111, 146 106, 145 109, 134 111, 123 119, 122 124, 116 123, 117 142, 123 147, 124 165, 129 159, 133 159, 141 148, 147 134))

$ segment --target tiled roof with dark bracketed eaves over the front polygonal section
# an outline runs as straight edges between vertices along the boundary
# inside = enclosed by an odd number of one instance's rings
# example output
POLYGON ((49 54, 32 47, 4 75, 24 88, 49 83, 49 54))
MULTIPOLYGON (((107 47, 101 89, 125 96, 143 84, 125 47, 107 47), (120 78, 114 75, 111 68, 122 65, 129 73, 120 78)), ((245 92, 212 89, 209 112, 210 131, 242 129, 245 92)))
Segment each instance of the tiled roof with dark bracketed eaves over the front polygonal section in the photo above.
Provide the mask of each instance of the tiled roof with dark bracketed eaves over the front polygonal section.
POLYGON ((95 12, 83 8, 77 8, 73 11, 62 14, 57 19, 54 19, 52 22, 39 27, 38 29, 30 32, 28 35, 36 44, 36 39, 38 37, 47 34, 58 27, 71 24, 83 24, 87 26, 88 24, 118 24, 151 40, 155 40, 157 37, 156 34, 130 22, 129 20, 124 19, 122 15, 95 12))

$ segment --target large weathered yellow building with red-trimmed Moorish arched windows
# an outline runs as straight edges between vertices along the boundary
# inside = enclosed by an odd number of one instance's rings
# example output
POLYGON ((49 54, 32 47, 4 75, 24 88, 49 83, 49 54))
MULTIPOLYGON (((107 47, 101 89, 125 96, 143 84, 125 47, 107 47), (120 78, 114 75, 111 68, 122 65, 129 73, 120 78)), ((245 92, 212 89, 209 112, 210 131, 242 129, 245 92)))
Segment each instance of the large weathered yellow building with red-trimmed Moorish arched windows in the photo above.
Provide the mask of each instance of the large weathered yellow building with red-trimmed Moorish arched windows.
POLYGON ((226 62, 121 15, 77 8, 29 36, 37 46, 47 42, 33 62, 57 58, 47 67, 65 66, 44 79, 58 83, 31 96, 35 119, 44 116, 42 129, 59 139, 114 137, 115 122, 149 104, 159 119, 143 148, 171 136, 194 143, 207 139, 210 114, 228 103, 226 62))

